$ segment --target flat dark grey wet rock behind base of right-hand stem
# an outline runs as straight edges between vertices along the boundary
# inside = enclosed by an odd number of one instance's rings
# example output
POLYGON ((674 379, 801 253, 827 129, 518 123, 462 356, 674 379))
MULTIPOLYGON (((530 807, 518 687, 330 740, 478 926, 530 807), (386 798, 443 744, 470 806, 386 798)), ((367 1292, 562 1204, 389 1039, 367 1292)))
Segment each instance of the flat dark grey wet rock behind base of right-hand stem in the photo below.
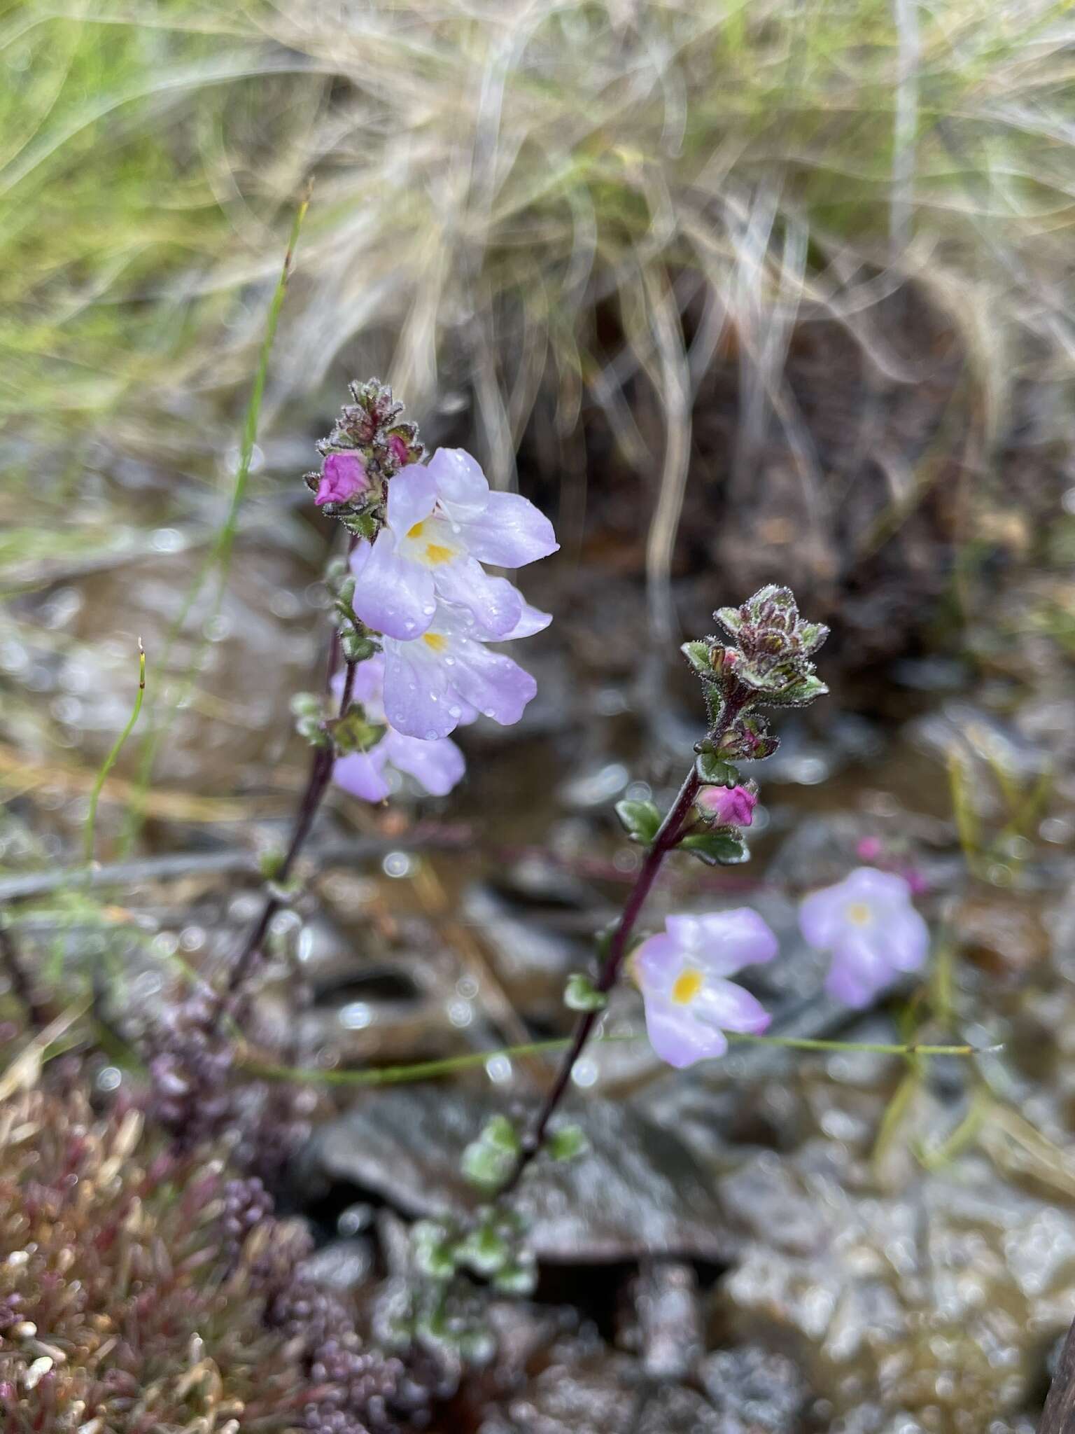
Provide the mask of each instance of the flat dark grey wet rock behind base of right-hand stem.
MULTIPOLYGON (((347 1183, 407 1216, 469 1209, 460 1156, 502 1104, 443 1087, 378 1091, 314 1136, 305 1184, 347 1183)), ((539 1259, 563 1263, 678 1255, 724 1262, 731 1246, 707 1174, 677 1134, 602 1100, 575 1113, 591 1143, 570 1164, 542 1163, 519 1205, 539 1259)))

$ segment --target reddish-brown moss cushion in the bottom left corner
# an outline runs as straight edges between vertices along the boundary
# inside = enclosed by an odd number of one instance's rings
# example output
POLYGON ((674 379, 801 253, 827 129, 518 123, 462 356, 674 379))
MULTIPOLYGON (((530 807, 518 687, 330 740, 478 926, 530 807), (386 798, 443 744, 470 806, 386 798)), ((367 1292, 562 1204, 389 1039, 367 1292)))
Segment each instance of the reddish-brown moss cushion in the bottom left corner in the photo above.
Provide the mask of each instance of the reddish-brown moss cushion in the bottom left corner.
POLYGON ((7 1434, 284 1434, 393 1425, 398 1359, 302 1275, 310 1236, 257 1179, 80 1094, 0 1108, 7 1434), (310 1318, 301 1318, 302 1312, 310 1318))

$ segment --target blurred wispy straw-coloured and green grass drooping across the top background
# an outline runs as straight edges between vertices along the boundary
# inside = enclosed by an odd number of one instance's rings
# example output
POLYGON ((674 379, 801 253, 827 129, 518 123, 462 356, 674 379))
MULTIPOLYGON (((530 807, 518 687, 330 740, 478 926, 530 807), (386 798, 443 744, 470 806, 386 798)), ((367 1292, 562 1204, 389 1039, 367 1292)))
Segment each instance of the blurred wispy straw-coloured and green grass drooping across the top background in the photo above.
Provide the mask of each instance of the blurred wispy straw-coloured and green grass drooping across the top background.
POLYGON ((34 79, 0 99, 0 414, 120 413, 129 439, 232 393, 317 175, 274 406, 324 406, 337 364, 419 412, 462 391, 503 485, 536 404, 560 457, 602 410, 651 489, 666 625, 715 358, 740 369, 734 493, 773 430, 816 526, 841 495, 785 380, 804 326, 917 383, 930 354, 886 307, 912 284, 962 340, 982 462, 1015 383, 1071 381, 1074 37, 1065 0, 9 11, 34 79))

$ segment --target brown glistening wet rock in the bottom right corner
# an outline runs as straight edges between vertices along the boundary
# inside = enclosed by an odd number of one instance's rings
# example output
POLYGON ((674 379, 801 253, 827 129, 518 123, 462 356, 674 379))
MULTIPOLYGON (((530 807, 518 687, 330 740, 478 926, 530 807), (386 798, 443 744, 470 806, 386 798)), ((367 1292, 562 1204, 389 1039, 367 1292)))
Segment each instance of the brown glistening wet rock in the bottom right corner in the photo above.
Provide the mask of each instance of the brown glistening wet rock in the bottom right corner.
POLYGON ((748 1236, 721 1289, 727 1318, 794 1336, 847 1427, 979 1434, 1016 1418, 1075 1312, 1075 1213, 1002 1184, 979 1156, 886 1196, 847 1149, 810 1141, 747 1162, 722 1197, 748 1236))

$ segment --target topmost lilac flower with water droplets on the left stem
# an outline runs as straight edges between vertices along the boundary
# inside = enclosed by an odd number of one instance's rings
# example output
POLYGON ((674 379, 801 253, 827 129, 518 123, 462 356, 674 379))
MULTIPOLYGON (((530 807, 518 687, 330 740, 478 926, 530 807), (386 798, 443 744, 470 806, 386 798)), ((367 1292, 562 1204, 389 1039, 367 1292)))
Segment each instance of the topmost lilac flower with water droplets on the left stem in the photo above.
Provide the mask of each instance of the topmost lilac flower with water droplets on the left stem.
POLYGON ((517 493, 492 492, 463 449, 437 449, 427 465, 411 463, 387 486, 384 526, 351 556, 360 621, 414 641, 433 627, 439 605, 450 604, 479 640, 519 635, 522 594, 482 564, 522 568, 556 552, 549 519, 517 493))

